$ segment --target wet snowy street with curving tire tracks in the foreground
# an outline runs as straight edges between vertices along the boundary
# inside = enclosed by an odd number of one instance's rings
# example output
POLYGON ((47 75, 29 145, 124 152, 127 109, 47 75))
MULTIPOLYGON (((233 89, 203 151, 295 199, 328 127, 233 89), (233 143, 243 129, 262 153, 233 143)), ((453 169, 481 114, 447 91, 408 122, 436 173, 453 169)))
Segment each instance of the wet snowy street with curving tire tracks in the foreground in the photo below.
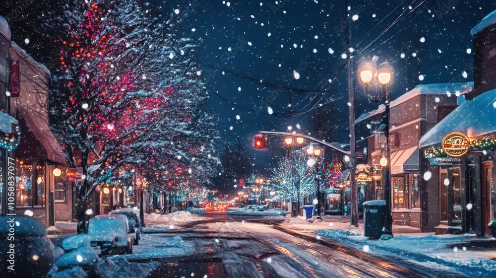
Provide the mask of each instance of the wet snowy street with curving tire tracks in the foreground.
POLYGON ((287 227, 277 217, 231 216, 224 211, 193 217, 189 223, 148 225, 135 254, 124 257, 160 263, 150 271, 151 278, 464 277, 324 240, 287 227))

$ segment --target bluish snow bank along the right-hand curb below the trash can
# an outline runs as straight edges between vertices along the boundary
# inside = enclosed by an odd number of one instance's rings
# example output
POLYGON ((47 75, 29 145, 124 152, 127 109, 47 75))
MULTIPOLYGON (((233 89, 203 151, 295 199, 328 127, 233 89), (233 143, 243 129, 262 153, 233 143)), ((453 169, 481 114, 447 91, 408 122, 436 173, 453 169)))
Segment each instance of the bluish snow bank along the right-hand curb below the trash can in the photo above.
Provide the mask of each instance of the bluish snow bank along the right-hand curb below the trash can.
MULTIPOLYGON (((475 235, 399 235, 390 240, 369 240, 361 233, 350 230, 320 230, 317 236, 361 249, 365 252, 379 252, 408 258, 426 266, 447 267, 455 272, 469 277, 488 276, 496 274, 495 251, 473 251, 466 248, 449 248, 455 243, 476 240, 475 235)), ((494 240, 494 239, 488 239, 494 240)), ((379 255, 377 254, 377 255, 379 255)))

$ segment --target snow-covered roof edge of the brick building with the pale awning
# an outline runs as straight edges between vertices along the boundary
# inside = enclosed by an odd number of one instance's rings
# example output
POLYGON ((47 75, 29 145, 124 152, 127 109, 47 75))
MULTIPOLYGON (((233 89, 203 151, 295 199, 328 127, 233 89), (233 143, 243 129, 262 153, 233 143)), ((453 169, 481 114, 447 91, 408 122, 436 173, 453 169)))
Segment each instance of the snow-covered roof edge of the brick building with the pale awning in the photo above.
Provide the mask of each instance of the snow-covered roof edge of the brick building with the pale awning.
MULTIPOLYGON (((403 103, 409 99, 412 99, 418 95, 445 95, 448 92, 451 95, 455 95, 458 92, 460 95, 471 92, 474 89, 474 82, 455 82, 455 83, 433 83, 433 84, 421 84, 417 85, 413 90, 410 90, 397 99, 391 101, 390 107, 394 107, 400 103, 403 103)), ((368 113, 363 114, 358 117, 355 124, 361 123, 366 119, 383 113, 386 107, 381 104, 378 109, 372 110, 368 113)))

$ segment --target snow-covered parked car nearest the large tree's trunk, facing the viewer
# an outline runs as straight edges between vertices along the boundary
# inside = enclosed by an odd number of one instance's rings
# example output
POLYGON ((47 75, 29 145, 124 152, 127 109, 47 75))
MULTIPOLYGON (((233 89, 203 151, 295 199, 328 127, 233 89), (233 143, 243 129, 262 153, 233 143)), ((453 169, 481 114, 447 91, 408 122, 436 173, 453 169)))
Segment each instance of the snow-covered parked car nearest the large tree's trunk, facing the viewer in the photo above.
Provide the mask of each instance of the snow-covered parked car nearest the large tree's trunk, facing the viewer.
POLYGON ((97 215, 88 221, 86 230, 91 247, 99 246, 102 255, 132 254, 132 233, 126 216, 97 215))

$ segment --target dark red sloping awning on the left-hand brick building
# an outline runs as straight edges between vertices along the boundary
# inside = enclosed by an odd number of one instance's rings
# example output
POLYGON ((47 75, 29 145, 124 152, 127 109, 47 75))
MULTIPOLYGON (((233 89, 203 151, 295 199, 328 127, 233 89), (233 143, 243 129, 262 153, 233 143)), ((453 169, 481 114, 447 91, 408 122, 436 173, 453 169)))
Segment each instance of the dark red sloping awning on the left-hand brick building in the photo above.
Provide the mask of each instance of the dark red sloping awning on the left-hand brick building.
POLYGON ((26 124, 33 132, 36 139, 40 141, 47 151, 47 159, 52 162, 65 164, 65 156, 62 147, 57 139, 55 139, 52 130, 50 130, 46 117, 24 105, 18 106, 17 110, 24 121, 26 121, 26 124))

